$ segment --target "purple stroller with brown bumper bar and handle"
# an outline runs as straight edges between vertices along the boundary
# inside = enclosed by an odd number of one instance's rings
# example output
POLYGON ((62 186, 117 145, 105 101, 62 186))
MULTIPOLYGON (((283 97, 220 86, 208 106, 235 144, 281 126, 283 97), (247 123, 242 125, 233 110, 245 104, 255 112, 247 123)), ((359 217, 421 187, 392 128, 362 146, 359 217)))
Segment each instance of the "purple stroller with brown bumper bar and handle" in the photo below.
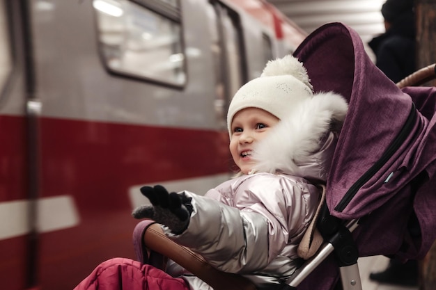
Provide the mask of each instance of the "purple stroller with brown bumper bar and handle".
MULTIPOLYGON (((436 88, 410 86, 433 78, 435 66, 397 86, 373 65, 359 35, 341 23, 311 33, 295 56, 314 90, 345 96, 349 111, 325 200, 304 245, 314 255, 283 289, 334 289, 341 277, 344 290, 358 290, 358 257, 421 259, 436 239, 436 88)), ((240 275, 212 268, 150 224, 142 221, 134 230, 139 261, 162 266, 165 256, 216 290, 255 289, 240 275)))

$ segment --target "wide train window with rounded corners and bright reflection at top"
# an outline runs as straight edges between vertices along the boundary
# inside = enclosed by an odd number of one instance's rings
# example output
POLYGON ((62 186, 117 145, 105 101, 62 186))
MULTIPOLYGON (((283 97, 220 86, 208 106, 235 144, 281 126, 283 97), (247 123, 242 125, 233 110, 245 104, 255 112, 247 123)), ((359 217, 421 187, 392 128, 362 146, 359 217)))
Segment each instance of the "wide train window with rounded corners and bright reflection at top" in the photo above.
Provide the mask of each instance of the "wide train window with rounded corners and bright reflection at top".
POLYGON ((128 76, 184 85, 181 24, 180 17, 174 13, 178 2, 134 2, 93 0, 98 16, 100 49, 107 67, 128 76), (165 10, 169 12, 165 13, 165 10))

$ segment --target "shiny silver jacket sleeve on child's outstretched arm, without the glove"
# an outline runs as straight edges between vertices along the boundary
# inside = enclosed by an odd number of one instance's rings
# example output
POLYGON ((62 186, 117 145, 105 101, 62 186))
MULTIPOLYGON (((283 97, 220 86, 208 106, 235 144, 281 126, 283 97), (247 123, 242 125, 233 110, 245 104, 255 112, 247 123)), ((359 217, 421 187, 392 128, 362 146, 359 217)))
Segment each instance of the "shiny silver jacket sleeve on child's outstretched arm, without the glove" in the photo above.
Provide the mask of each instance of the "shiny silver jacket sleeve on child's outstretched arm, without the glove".
POLYGON ((290 227, 298 232, 309 223, 307 205, 304 198, 295 199, 301 195, 296 190, 293 182, 275 175, 251 179, 228 195, 221 192, 221 202, 185 192, 194 208, 189 226, 180 235, 166 234, 222 271, 253 273, 283 250, 290 227))

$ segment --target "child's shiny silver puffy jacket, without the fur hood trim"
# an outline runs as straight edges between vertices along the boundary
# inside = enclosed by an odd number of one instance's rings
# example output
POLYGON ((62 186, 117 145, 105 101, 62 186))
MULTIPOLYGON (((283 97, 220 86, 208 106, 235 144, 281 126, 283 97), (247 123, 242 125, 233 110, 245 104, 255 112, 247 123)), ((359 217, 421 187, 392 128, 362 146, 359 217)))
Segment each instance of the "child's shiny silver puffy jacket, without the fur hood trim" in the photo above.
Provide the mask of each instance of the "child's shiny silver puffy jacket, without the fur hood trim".
MULTIPOLYGON (((286 280, 297 267, 297 245, 318 204, 318 188, 301 177, 256 173, 205 195, 185 191, 194 211, 189 227, 172 239, 222 271, 242 273, 262 288, 286 280)), ((173 265, 172 275, 179 275, 173 265)), ((194 277, 192 289, 205 289, 194 277), (200 288, 198 288, 200 287, 200 288)))

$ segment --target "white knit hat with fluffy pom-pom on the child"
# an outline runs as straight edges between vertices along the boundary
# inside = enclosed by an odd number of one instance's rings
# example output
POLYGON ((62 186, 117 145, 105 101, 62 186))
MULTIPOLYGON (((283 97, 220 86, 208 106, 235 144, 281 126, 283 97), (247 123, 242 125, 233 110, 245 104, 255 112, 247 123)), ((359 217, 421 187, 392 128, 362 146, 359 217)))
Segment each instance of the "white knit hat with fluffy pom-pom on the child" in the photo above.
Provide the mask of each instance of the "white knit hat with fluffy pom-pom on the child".
POLYGON ((313 96, 306 68, 293 56, 269 61, 260 77, 242 86, 233 97, 227 113, 228 133, 238 111, 261 108, 282 120, 291 108, 313 96))

